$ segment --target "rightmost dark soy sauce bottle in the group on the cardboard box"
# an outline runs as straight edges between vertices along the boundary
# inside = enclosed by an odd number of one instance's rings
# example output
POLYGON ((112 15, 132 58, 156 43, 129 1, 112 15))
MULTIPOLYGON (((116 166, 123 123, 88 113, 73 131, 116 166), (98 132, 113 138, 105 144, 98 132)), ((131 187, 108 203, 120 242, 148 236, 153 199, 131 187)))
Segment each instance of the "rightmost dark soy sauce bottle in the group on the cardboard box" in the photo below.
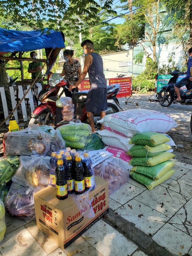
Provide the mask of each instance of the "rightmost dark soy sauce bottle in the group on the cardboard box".
POLYGON ((93 168, 91 159, 89 158, 88 153, 83 154, 83 166, 84 166, 84 178, 85 178, 85 190, 88 190, 89 188, 94 189, 95 188, 95 179, 93 175, 93 168))

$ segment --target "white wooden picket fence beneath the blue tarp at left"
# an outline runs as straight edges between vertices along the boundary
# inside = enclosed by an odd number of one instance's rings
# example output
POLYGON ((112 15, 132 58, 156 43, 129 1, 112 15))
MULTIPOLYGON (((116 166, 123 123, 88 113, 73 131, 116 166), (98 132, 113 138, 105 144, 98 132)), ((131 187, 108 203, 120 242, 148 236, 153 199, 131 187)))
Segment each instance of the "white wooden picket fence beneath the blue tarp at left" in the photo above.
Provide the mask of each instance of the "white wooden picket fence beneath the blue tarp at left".
MULTIPOLYGON (((27 89, 29 89, 30 85, 27 86, 27 89)), ((37 87, 38 88, 38 94, 41 91, 41 87, 37 87)), ((17 105, 17 101, 16 101, 16 95, 15 95, 15 88, 14 86, 10 86, 9 87, 9 91, 10 91, 10 96, 11 96, 11 103, 12 103, 12 108, 14 109, 17 105)), ((8 108, 7 108, 7 101, 6 101, 6 96, 5 96, 5 90, 4 87, 0 87, 0 94, 1 94, 1 100, 2 100, 2 104, 3 104, 3 111, 4 111, 4 119, 9 115, 8 113, 8 108)), ((18 95, 19 95, 19 99, 22 99, 22 97, 24 96, 23 93, 23 86, 22 85, 18 85, 18 95)), ((33 110, 35 110, 35 106, 34 106, 34 102, 33 102, 33 95, 32 95, 32 91, 29 90, 28 94, 25 96, 25 99, 21 102, 21 109, 22 109, 22 119, 23 121, 27 121, 27 109, 26 109, 26 100, 29 101, 30 104, 30 109, 31 112, 33 112, 33 110)), ((40 104, 40 102, 39 102, 40 104)), ((13 112, 15 119, 17 121, 17 123, 19 122, 18 119, 18 114, 17 114, 17 110, 15 110, 13 112)), ((6 125, 9 124, 9 119, 7 119, 7 121, 5 122, 6 125)))

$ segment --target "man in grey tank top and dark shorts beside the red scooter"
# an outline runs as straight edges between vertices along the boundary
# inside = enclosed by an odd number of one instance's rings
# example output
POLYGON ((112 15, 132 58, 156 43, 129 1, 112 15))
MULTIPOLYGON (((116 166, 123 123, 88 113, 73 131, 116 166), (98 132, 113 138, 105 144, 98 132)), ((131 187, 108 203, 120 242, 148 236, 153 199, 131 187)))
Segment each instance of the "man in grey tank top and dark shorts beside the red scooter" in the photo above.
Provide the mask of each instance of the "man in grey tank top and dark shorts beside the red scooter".
MULTIPOLYGON (((93 42, 87 39, 81 43, 81 46, 85 54, 84 68, 82 74, 79 76, 79 80, 74 85, 70 85, 69 91, 76 88, 85 78, 86 74, 89 74, 91 88, 87 95, 85 110, 87 111, 92 133, 94 133, 94 113, 100 113, 101 119, 106 115, 107 82, 103 72, 103 60, 98 53, 94 52, 93 42)), ((101 125, 101 130, 104 129, 104 126, 101 125)))

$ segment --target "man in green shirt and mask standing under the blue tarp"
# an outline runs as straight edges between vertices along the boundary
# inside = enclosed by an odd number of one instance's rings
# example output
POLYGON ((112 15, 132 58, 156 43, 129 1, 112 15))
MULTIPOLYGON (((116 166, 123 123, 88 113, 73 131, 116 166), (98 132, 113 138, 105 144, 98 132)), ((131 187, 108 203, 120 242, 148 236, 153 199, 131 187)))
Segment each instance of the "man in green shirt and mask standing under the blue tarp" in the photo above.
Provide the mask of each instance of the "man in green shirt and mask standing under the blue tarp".
MULTIPOLYGON (((36 52, 31 52, 30 56, 31 56, 32 59, 37 59, 36 52)), ((38 75, 38 73, 39 73, 39 71, 41 70, 42 67, 43 67, 43 63, 42 62, 35 62, 35 61, 33 61, 33 62, 29 63, 28 72, 31 73, 32 79, 35 79, 37 77, 37 75, 38 75)), ((43 81, 41 81, 41 77, 42 76, 43 75, 42 75, 42 72, 41 72, 40 75, 38 76, 38 79, 36 80, 36 83, 41 83, 41 85, 43 86, 43 81)), ((35 87, 36 86, 34 86, 34 89, 33 89, 34 90, 34 95, 36 94, 35 93, 35 87)), ((38 104, 38 99, 37 99, 36 96, 37 95, 35 95, 35 101, 38 104)))

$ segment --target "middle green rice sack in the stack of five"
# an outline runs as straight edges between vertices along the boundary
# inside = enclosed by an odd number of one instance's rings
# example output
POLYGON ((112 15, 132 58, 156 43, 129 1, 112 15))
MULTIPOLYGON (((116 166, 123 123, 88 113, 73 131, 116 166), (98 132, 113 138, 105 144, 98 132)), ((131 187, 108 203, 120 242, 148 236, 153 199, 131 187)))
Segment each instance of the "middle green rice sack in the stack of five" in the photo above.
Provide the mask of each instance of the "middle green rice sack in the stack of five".
POLYGON ((167 160, 170 160, 174 156, 174 154, 166 151, 153 157, 132 157, 129 163, 133 166, 154 166, 156 164, 160 164, 167 160))

